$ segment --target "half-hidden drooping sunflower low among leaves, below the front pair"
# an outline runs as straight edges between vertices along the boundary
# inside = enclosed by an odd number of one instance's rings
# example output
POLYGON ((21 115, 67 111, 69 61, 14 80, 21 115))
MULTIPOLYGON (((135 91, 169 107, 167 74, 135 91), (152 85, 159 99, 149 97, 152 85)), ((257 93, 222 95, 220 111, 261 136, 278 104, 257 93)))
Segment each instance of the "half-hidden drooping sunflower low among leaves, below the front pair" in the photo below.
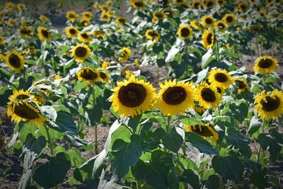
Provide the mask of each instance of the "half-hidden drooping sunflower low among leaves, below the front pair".
POLYGON ((219 139, 218 133, 209 123, 204 125, 185 125, 184 127, 187 132, 195 132, 204 139, 212 139, 213 142, 217 142, 219 139))

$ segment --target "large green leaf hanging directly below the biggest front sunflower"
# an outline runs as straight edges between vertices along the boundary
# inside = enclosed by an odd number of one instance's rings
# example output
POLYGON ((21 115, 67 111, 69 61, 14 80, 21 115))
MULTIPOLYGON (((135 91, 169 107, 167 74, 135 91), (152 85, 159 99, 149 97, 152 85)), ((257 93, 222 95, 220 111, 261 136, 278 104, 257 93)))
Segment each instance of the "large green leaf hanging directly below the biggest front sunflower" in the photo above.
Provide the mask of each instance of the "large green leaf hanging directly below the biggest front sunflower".
POLYGON ((137 164, 141 152, 141 139, 137 134, 132 135, 131 142, 125 142, 122 139, 114 142, 110 151, 110 161, 118 178, 122 178, 129 172, 129 166, 137 164))

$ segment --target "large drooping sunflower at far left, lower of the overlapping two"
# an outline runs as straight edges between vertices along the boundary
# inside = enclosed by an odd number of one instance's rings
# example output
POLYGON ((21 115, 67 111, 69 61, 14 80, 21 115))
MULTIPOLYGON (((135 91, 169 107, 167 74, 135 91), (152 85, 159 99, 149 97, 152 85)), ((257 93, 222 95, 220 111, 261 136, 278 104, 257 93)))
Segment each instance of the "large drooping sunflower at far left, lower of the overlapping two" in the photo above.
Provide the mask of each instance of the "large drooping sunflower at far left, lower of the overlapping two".
POLYGON ((33 125, 43 125, 45 117, 40 113, 35 103, 28 99, 8 102, 8 117, 15 122, 30 122, 33 125))

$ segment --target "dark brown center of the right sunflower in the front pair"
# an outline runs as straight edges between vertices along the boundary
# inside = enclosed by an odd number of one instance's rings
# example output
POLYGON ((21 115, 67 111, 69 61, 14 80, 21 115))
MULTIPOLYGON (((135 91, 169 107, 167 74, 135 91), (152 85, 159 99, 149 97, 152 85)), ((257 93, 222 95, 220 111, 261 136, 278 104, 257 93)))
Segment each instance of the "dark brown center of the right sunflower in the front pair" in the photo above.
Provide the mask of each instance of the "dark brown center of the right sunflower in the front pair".
POLYGON ((178 105, 185 101, 187 97, 187 93, 185 89, 181 86, 173 86, 166 89, 166 91, 162 94, 163 100, 169 105, 178 105))

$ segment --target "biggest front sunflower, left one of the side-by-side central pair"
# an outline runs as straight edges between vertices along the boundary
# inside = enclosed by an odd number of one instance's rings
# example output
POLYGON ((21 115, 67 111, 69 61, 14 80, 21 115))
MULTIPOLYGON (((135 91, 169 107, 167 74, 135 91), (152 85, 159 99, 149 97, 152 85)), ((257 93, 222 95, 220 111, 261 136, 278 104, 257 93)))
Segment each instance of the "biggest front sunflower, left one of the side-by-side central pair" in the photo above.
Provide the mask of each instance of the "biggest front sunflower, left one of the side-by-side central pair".
POLYGON ((117 87, 109 101, 112 102, 112 108, 119 115, 140 115, 142 111, 153 108, 152 101, 156 98, 155 88, 145 82, 130 76, 122 82, 117 82, 117 87))

